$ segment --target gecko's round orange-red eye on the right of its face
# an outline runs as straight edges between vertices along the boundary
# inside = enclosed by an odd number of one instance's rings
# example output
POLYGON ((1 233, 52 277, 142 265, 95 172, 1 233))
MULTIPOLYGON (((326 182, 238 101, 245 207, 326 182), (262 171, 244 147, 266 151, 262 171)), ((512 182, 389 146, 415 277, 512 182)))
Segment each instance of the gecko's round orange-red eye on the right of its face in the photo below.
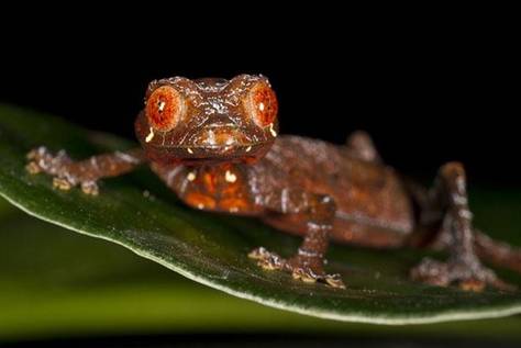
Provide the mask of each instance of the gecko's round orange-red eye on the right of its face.
POLYGON ((247 96, 246 110, 258 126, 265 127, 271 124, 278 112, 274 90, 265 82, 256 83, 247 96))

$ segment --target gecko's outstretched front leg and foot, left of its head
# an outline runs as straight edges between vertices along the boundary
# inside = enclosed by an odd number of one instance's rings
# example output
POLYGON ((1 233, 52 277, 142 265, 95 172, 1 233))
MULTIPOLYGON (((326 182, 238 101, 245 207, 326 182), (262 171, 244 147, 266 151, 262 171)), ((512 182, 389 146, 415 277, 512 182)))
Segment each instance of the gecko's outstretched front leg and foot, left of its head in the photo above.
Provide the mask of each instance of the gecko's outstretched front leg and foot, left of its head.
POLYGON ((144 162, 141 149, 115 151, 74 161, 60 150, 53 155, 46 147, 38 147, 27 154, 26 170, 30 173, 45 172, 54 177, 53 184, 60 190, 80 186, 87 194, 99 193, 97 181, 101 178, 117 177, 133 170, 144 162))

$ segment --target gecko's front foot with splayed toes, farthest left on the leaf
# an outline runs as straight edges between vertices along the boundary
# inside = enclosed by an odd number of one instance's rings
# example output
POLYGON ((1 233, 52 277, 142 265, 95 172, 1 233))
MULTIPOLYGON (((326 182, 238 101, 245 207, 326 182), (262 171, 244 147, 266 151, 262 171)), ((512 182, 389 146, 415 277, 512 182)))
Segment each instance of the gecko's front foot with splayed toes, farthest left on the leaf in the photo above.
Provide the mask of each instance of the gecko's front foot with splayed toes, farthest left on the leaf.
POLYGON ((68 191, 76 186, 80 186, 87 194, 97 195, 99 193, 95 180, 81 179, 80 176, 71 172, 74 161, 64 150, 53 155, 46 147, 41 146, 31 150, 26 157, 29 160, 25 166, 27 172, 31 175, 40 172, 51 175, 55 189, 68 191))

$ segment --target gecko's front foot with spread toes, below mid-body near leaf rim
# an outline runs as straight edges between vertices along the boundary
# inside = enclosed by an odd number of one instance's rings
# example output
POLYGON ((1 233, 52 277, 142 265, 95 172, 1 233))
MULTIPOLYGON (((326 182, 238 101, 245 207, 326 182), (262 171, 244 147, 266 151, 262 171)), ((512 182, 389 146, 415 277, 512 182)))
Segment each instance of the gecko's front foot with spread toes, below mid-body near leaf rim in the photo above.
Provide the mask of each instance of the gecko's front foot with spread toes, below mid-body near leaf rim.
POLYGON ((257 265, 265 270, 284 270, 306 283, 322 282, 332 288, 345 289, 340 274, 326 274, 323 271, 321 258, 298 255, 286 260, 263 247, 252 250, 248 257, 257 260, 257 265))

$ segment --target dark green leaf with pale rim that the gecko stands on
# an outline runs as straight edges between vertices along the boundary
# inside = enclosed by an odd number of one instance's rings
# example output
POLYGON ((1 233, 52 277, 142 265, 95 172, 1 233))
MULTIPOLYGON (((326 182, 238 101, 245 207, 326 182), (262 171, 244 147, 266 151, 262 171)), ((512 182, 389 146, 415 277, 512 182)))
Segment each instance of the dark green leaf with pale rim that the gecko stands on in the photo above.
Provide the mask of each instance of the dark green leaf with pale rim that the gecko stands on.
MULTIPOLYGON (((519 292, 469 293, 409 281, 408 269, 424 255, 414 250, 334 246, 328 267, 342 273, 346 290, 263 271, 246 256, 252 248, 265 246, 291 255, 299 239, 255 220, 192 211, 145 169, 104 180, 97 198, 80 190, 56 191, 48 177, 30 176, 24 170, 25 154, 38 145, 53 150, 65 148, 74 158, 132 146, 56 117, 0 106, 0 193, 11 203, 45 221, 125 246, 226 293, 302 314, 379 324, 434 323, 521 312, 519 292)), ((519 192, 512 194, 478 193, 476 197, 483 200, 473 202, 473 206, 478 224, 481 221, 495 236, 520 245, 519 192), (505 221, 509 223, 502 224, 505 221)), ((501 276, 521 284, 517 274, 501 271, 501 276)))

